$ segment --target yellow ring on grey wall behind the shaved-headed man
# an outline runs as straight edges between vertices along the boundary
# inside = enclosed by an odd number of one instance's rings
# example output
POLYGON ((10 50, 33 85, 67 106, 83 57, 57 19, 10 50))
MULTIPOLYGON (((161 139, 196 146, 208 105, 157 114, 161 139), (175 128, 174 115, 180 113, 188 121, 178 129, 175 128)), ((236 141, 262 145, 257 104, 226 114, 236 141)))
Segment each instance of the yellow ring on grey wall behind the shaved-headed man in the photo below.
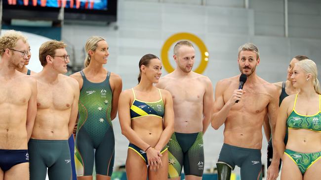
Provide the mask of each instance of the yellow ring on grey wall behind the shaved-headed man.
POLYGON ((207 66, 207 62, 208 62, 208 51, 206 49, 205 44, 198 36, 188 33, 188 32, 176 33, 176 34, 170 36, 165 41, 163 47, 161 48, 161 60, 163 63, 163 67, 166 69, 166 71, 168 73, 171 73, 174 71, 174 67, 171 66, 171 64, 168 60, 168 51, 169 51, 169 48, 172 44, 174 44, 175 42, 177 42, 179 40, 184 40, 184 39, 194 42, 199 47, 199 49, 201 51, 201 63, 195 69, 194 72, 199 73, 199 74, 203 73, 206 66, 207 66))

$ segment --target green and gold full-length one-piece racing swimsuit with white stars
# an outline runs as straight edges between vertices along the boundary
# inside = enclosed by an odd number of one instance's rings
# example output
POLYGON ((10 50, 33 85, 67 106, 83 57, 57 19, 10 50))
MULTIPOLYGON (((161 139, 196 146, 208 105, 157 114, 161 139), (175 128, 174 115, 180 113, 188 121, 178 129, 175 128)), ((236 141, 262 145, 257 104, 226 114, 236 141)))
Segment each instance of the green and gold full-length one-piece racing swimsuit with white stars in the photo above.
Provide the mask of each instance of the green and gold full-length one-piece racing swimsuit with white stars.
POLYGON ((112 121, 112 95, 108 71, 101 83, 88 81, 83 73, 79 98, 79 120, 76 133, 75 164, 77 176, 96 174, 112 176, 115 157, 115 137, 112 121), (96 150, 96 151, 94 151, 96 150))

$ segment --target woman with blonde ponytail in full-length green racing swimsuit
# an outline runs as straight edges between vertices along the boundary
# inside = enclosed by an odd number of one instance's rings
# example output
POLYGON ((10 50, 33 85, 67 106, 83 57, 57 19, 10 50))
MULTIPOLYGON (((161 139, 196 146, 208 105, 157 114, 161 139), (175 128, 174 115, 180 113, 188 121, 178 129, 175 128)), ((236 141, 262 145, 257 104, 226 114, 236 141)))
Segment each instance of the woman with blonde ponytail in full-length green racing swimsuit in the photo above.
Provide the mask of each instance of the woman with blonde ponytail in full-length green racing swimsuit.
POLYGON ((109 46, 104 38, 90 37, 85 50, 85 68, 71 75, 80 86, 75 143, 77 179, 92 180, 95 162, 96 180, 110 180, 115 155, 112 120, 117 115, 122 83, 119 75, 103 67, 109 57, 109 46))

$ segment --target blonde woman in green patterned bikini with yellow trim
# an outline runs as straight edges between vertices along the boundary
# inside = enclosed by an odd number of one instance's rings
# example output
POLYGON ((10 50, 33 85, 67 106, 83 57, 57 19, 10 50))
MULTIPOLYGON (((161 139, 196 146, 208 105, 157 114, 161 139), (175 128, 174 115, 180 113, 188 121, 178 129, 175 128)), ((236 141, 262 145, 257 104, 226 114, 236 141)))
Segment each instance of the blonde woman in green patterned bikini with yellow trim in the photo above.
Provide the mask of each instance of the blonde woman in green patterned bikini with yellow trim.
POLYGON ((301 60, 293 68, 292 84, 300 92, 282 101, 273 140, 283 162, 281 180, 321 179, 321 90, 317 77, 312 60, 301 60))

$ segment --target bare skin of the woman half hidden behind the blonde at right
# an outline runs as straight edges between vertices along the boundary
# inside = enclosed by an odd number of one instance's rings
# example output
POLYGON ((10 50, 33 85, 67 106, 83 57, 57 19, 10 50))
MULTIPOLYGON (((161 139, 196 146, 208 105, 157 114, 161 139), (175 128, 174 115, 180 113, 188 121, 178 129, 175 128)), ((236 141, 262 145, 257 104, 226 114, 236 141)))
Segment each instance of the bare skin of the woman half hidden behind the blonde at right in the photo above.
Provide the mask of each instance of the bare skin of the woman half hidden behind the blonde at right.
MULTIPOLYGON (((293 74, 294 64, 297 63, 297 62, 299 62, 299 60, 293 58, 290 61, 289 66, 287 67, 287 78, 286 78, 286 81, 285 81, 285 92, 288 95, 296 94, 296 93, 299 92, 298 89, 293 87, 292 79, 291 79, 291 76, 293 74)), ((282 92, 282 83, 283 82, 274 83, 274 85, 278 88, 279 97, 280 97, 281 92, 282 92)), ((266 139, 267 139, 267 141, 269 141, 270 137, 271 137, 271 126, 270 126, 269 118, 267 116, 265 118, 263 127, 264 127, 264 133, 265 133, 266 139)))

